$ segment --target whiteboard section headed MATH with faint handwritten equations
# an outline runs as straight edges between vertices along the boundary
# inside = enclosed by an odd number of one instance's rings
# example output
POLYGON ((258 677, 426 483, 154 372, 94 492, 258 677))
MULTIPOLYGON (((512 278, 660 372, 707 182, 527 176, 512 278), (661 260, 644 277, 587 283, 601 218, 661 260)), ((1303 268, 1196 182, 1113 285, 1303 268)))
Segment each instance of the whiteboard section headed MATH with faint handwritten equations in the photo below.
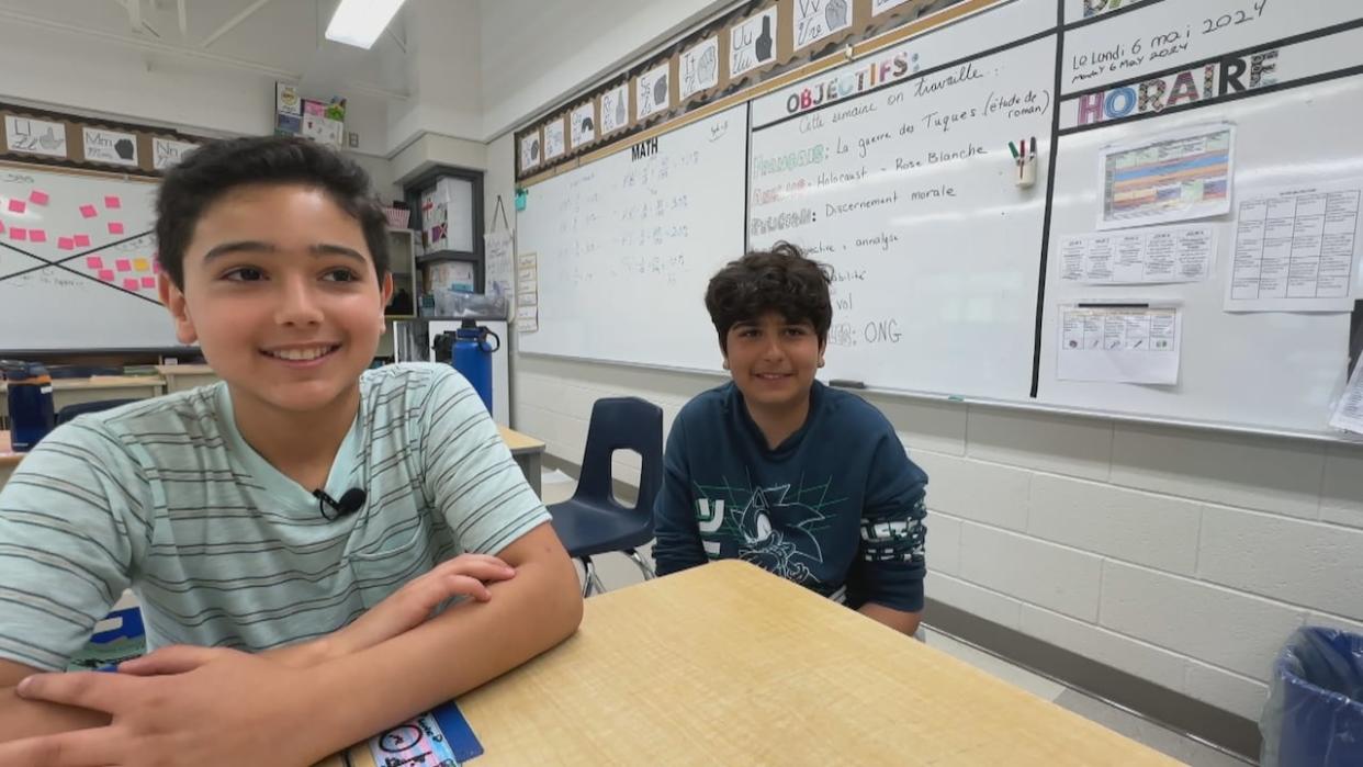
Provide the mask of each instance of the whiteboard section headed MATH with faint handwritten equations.
POLYGON ((720 371, 705 286, 743 255, 747 106, 536 184, 517 215, 538 327, 522 351, 720 371))

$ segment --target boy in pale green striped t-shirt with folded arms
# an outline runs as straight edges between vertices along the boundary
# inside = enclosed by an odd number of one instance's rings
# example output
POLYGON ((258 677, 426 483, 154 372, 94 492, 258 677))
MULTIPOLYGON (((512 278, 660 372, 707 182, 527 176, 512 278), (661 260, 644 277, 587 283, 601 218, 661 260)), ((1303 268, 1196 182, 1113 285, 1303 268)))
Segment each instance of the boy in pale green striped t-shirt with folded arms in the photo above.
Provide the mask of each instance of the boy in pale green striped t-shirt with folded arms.
POLYGON ((577 628, 472 387, 367 371, 393 278, 358 166, 207 144, 165 177, 157 237, 176 334, 222 383, 64 425, 0 490, 0 763, 307 764, 577 628), (154 651, 40 673, 125 587, 154 651))

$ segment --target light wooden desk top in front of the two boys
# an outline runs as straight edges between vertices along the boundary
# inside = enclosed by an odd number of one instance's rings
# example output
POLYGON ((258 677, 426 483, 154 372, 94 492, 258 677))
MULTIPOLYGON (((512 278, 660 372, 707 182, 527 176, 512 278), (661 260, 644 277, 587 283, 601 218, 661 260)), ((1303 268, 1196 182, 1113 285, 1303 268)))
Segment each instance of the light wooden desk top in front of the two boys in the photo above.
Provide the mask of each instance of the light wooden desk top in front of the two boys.
POLYGON ((1178 764, 741 561, 587 599, 577 636, 459 708, 477 767, 1178 764))

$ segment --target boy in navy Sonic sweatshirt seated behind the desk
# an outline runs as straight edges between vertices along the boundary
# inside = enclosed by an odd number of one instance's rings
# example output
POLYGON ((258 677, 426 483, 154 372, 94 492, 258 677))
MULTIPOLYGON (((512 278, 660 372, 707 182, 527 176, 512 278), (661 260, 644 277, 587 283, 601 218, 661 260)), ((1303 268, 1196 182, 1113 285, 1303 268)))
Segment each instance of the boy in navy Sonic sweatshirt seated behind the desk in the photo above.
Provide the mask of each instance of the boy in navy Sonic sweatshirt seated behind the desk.
POLYGON ((814 379, 829 272, 788 242, 705 294, 733 380, 672 424, 654 508, 658 575, 741 559, 904 633, 923 610, 923 473, 889 420, 814 379))

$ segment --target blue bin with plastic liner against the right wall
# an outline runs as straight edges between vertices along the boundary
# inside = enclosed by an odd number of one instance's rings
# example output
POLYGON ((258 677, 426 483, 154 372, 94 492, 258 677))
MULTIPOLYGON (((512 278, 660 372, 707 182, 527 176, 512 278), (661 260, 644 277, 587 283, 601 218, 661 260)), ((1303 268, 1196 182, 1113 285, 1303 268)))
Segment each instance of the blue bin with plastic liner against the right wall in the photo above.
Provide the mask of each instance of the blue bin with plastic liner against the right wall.
POLYGON ((1264 767, 1363 764, 1363 636, 1298 629, 1273 665, 1259 732, 1264 767))

